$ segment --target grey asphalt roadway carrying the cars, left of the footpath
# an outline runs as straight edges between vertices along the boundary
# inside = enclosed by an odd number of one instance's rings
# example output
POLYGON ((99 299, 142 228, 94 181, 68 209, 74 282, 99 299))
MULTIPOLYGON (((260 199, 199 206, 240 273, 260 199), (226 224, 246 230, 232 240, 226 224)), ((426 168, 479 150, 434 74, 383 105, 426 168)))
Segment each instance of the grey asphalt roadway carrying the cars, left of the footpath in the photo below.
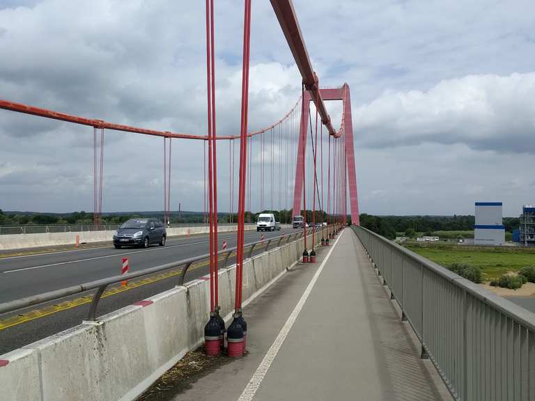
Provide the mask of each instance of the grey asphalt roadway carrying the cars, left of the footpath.
MULTIPOLYGON (((293 230, 285 229, 285 232, 290 233, 293 230)), ((269 239, 270 237, 281 235, 281 232, 246 232, 245 244, 258 241, 260 234, 269 239)), ((232 248, 236 245, 235 233, 220 233, 219 246, 223 241, 227 242, 228 248, 232 248)), ((208 253, 208 236, 196 235, 169 238, 165 246, 150 246, 148 249, 114 249, 112 246, 107 246, 95 249, 3 258, 0 259, 0 303, 100 278, 116 276, 121 273, 123 257, 129 258, 130 272, 135 272, 206 253, 208 253)), ((232 259, 229 261, 232 262, 232 259)), ((208 271, 207 264, 196 269, 190 268, 186 281, 199 278, 207 274, 208 271)), ((98 305, 97 315, 104 315, 141 299, 169 290, 177 283, 178 276, 176 275, 168 278, 155 278, 153 276, 153 282, 151 283, 142 283, 135 288, 128 288, 102 298, 98 305)), ((91 292, 84 295, 91 295, 91 292)), ((0 315, 0 355, 74 327, 86 319, 89 310, 88 301, 82 301, 77 306, 71 306, 69 302, 72 299, 79 301, 80 295, 45 305, 33 306, 25 310, 18 310, 17 313, 0 315), (69 306, 49 313, 47 306, 62 303, 69 306), (21 317, 24 317, 24 319, 21 317), (24 322, 17 322, 11 327, 6 327, 14 319, 22 319, 24 322)))

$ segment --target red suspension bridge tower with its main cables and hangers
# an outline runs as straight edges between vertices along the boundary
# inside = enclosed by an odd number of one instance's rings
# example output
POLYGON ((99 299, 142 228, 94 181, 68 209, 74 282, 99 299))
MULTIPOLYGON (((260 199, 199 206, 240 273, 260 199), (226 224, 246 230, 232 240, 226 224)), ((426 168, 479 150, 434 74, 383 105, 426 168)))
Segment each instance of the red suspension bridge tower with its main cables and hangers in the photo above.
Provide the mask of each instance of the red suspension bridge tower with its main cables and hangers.
MULTIPOLYGON (((337 227, 346 225, 348 198, 350 199, 352 223, 359 224, 350 88, 348 84, 343 84, 339 88, 320 88, 319 79, 313 70, 293 4, 291 1, 272 0, 272 6, 302 76, 302 93, 295 106, 284 117, 269 127, 256 132, 248 131, 251 52, 250 0, 245 1, 239 135, 217 135, 214 0, 206 1, 206 107, 208 119, 206 135, 132 127, 95 118, 73 116, 61 111, 43 109, 9 100, 0 100, 1 109, 93 128, 93 220, 97 225, 100 225, 102 216, 104 145, 107 131, 114 130, 163 138, 163 217, 166 223, 169 222, 171 209, 173 139, 175 141, 203 141, 203 210, 210 226, 210 310, 212 318, 207 326, 208 331, 210 331, 210 324, 213 326, 212 329, 217 329, 219 324, 224 329, 224 322, 219 317, 219 284, 217 283, 217 253, 219 249, 216 217, 218 216, 218 184, 221 185, 220 182, 218 183, 217 173, 217 168, 221 162, 218 161, 217 152, 223 141, 228 142, 229 174, 226 184, 228 184, 229 194, 229 221, 233 220, 235 214, 235 195, 236 189, 238 189, 235 320, 228 329, 228 338, 233 336, 237 336, 237 339, 244 338, 245 333, 247 333, 247 325, 241 314, 242 263, 244 260, 245 221, 246 219, 251 221, 252 210, 275 211, 290 209, 291 206, 293 216, 302 215, 304 221, 302 225, 304 230, 304 262, 316 261, 316 251, 314 250, 316 230, 311 230, 312 242, 307 244, 307 226, 315 228, 318 223, 322 227, 325 226, 324 223, 327 226, 334 224, 337 227), (325 102, 332 100, 342 102, 342 117, 340 127, 337 130, 333 127, 325 104, 325 102), (311 103, 314 105, 313 113, 311 113, 311 103), (327 139, 324 137, 324 131, 327 139), (218 143, 219 146, 217 146, 218 143), (239 146, 238 164, 235 157, 237 145, 239 146), (238 175, 237 183, 236 175, 238 175), (258 205, 253 203, 253 194, 256 194, 258 205), (307 215, 307 210, 311 210, 311 214, 307 215), (307 219, 311 221, 307 221, 307 219), (326 221, 324 221, 325 219, 326 221)), ((321 231, 321 235, 322 243, 329 241, 325 230, 321 231)), ((238 340, 229 342, 229 354, 241 354, 245 350, 245 345, 240 347, 242 345, 238 340), (235 349, 235 347, 238 348, 235 349)))

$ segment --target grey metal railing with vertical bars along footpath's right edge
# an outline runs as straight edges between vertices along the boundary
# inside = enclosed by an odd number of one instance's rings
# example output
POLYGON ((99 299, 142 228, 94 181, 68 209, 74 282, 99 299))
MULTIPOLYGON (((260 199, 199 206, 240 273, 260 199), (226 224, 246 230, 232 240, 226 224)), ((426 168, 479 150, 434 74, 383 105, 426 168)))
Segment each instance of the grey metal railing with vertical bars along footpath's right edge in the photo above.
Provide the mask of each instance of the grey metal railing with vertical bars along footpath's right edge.
POLYGON ((456 400, 535 400, 535 315, 352 226, 456 400))

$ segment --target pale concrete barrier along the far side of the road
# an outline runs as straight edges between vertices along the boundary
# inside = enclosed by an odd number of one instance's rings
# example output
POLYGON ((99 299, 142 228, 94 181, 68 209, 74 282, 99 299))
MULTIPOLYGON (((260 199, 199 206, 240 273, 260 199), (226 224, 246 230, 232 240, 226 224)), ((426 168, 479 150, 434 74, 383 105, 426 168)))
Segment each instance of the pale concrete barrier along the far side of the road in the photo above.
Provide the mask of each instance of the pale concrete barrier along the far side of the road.
MULTIPOLYGON (((291 227, 284 225, 284 228, 291 227)), ((169 237, 180 235, 195 235, 208 233, 208 226, 176 227, 167 228, 169 237)), ((235 231, 236 226, 217 226, 218 233, 235 231)), ((245 230, 256 230, 254 225, 246 225, 245 230)), ((79 235, 80 242, 111 242, 115 231, 81 231, 79 233, 43 233, 43 234, 8 234, 0 235, 0 251, 10 249, 35 248, 38 246, 74 245, 76 236, 79 235)))

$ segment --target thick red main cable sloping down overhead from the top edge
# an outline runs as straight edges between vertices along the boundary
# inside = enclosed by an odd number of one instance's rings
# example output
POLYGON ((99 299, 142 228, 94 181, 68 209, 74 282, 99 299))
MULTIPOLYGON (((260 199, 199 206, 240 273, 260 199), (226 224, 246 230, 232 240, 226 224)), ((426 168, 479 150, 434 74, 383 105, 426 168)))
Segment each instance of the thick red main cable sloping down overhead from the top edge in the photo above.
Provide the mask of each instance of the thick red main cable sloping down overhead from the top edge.
POLYGON ((307 88, 307 91, 311 93, 312 101, 316 104, 316 109, 320 113, 323 125, 327 127, 330 135, 338 138, 341 136, 341 132, 336 132, 332 127, 331 118, 329 117, 329 113, 327 113, 323 97, 321 97, 319 90, 318 76, 312 68, 309 53, 307 52, 307 45, 304 44, 304 38, 299 22, 297 21, 297 15, 295 15, 295 10, 293 9, 292 1, 271 0, 271 5, 275 15, 277 15, 277 19, 279 19, 279 24, 284 32, 284 36, 286 36, 286 41, 288 42, 288 46, 290 46, 290 51, 293 54, 297 68, 299 68, 301 77, 303 78, 303 84, 307 88))

